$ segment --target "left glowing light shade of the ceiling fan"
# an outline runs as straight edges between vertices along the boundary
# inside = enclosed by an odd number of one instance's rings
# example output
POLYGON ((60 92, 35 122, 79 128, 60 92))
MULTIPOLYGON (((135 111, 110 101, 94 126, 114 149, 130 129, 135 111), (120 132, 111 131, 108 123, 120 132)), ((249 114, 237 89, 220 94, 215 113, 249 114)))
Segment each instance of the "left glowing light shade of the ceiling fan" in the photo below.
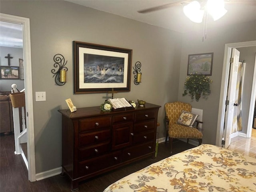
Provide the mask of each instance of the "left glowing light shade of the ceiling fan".
POLYGON ((201 23, 204 17, 204 10, 198 1, 192 1, 183 7, 184 14, 193 22, 201 23))

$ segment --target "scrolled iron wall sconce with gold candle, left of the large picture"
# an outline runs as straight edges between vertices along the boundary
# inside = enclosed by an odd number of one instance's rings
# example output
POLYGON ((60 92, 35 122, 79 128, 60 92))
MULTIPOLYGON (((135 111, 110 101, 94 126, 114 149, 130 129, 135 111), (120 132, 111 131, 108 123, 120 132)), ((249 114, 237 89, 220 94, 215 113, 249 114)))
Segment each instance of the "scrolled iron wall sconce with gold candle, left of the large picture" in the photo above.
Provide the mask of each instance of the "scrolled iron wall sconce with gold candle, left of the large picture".
POLYGON ((62 54, 56 54, 53 57, 54 60, 54 67, 58 67, 59 69, 56 71, 55 69, 52 69, 51 72, 54 74, 52 77, 55 76, 55 82, 57 85, 62 86, 66 83, 66 74, 68 68, 64 67, 67 64, 67 61, 65 62, 65 58, 62 56, 62 54))

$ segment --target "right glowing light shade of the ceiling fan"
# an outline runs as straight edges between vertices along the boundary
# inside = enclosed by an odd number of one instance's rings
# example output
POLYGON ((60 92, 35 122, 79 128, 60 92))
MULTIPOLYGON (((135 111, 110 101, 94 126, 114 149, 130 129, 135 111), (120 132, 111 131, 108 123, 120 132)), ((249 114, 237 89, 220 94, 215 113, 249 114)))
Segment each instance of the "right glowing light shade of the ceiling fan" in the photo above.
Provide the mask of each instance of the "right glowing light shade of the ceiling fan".
POLYGON ((224 16, 228 11, 224 8, 224 0, 208 0, 206 10, 216 21, 224 16))

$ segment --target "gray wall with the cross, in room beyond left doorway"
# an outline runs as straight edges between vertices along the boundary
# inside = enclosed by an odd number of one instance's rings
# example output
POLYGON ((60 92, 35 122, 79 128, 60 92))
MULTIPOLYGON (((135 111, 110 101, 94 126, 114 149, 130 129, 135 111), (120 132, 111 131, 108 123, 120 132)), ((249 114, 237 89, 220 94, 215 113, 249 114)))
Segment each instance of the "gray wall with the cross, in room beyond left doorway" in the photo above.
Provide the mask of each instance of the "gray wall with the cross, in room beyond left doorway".
MULTIPOLYGON (((0 46, 0 65, 8 66, 8 60, 4 58, 10 54, 12 59, 10 59, 10 66, 19 67, 19 59, 23 59, 23 49, 22 48, 12 48, 0 46)), ((12 84, 16 84, 18 90, 24 89, 24 80, 13 80, 13 79, 1 79, 0 80, 0 90, 10 91, 12 89, 12 84)))

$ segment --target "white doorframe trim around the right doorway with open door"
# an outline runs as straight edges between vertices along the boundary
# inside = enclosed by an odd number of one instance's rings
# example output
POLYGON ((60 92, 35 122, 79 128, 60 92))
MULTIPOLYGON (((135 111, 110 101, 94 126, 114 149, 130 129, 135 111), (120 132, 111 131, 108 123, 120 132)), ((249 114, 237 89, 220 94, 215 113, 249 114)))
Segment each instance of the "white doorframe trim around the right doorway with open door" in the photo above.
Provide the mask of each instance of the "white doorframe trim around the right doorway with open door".
MULTIPOLYGON (((221 142, 222 142, 222 137, 223 137, 223 132, 224 132, 223 125, 224 125, 224 116, 225 116, 225 102, 226 102, 226 97, 227 97, 226 90, 228 88, 228 74, 229 74, 229 68, 230 68, 229 60, 230 60, 230 56, 231 56, 231 51, 232 51, 232 48, 250 47, 250 46, 256 46, 256 41, 225 44, 221 87, 220 87, 220 103, 219 103, 218 122, 217 122, 217 130, 216 130, 216 142, 215 142, 215 144, 220 147, 222 146, 221 142)), ((251 108, 251 106, 250 106, 250 108, 251 108)))

